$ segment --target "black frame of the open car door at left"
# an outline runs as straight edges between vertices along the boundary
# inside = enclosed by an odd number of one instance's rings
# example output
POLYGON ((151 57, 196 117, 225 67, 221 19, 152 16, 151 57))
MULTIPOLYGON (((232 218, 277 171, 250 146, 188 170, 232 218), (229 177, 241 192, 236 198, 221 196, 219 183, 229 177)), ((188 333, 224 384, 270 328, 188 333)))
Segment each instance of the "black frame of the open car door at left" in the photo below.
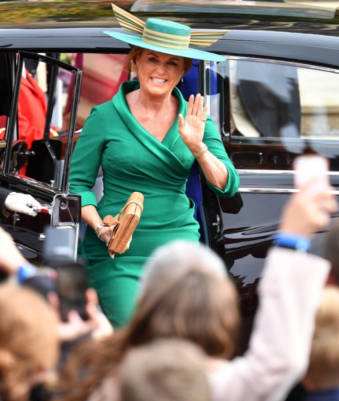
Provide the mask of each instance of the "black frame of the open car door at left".
MULTIPOLYGON (((46 226, 71 228, 75 236, 75 243, 77 244, 78 223, 81 221, 81 197, 79 195, 69 194, 68 180, 74 145, 81 77, 82 71, 72 65, 37 53, 21 50, 18 51, 13 97, 9 122, 7 124, 8 132, 6 135, 7 144, 4 167, 3 171, 0 172, 0 185, 12 191, 32 195, 42 204, 42 211, 35 217, 12 212, 9 215, 0 218, 0 225, 12 234, 15 243, 18 245, 23 255, 36 265, 44 263, 43 243, 45 240, 44 231, 46 226), (20 82, 25 58, 47 62, 55 66, 55 68, 63 68, 73 73, 76 78, 60 188, 52 184, 46 184, 30 179, 29 177, 15 176, 13 174, 15 171, 13 171, 13 168, 11 167, 20 82)), ((46 125, 49 132, 49 126, 48 124, 46 125)), ((76 259, 76 256, 77 246, 74 249, 74 260, 76 259)))

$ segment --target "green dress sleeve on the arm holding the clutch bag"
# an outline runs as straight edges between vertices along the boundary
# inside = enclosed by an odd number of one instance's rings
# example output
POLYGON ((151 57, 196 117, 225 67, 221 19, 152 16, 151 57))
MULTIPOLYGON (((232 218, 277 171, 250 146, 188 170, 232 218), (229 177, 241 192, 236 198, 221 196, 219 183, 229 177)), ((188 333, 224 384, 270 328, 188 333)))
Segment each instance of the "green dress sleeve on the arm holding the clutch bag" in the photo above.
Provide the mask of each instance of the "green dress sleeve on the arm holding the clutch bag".
POLYGON ((94 107, 77 139, 70 170, 70 192, 81 195, 81 206, 97 206, 92 187, 105 146, 105 120, 94 107))

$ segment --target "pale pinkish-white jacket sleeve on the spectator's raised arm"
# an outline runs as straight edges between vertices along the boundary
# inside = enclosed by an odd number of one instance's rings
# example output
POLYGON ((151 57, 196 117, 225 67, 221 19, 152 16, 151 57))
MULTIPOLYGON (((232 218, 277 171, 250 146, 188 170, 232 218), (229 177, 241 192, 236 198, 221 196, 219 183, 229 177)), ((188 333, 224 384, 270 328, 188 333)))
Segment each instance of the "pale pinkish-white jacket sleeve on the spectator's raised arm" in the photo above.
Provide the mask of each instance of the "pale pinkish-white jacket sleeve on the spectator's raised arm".
POLYGON ((273 247, 247 352, 209 373, 215 401, 281 401, 306 373, 328 261, 273 247))

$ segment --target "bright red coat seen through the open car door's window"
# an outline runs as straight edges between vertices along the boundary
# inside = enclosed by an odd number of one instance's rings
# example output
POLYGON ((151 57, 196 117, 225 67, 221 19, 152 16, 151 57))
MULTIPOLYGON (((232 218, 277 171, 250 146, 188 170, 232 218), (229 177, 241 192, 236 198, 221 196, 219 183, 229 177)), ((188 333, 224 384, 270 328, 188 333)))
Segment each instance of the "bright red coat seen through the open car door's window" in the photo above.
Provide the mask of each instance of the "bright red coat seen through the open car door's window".
POLYGON ((18 103, 19 139, 26 140, 28 149, 34 139, 44 137, 47 103, 44 91, 26 70, 21 77, 18 103))

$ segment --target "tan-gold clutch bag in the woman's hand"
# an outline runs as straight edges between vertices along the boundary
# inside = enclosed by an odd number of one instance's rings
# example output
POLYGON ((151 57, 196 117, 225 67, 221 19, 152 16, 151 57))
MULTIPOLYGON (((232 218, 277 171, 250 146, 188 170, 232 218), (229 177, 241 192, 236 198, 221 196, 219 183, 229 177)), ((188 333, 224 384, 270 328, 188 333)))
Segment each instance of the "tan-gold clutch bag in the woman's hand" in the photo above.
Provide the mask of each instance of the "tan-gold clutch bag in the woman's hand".
POLYGON ((141 192, 133 192, 117 216, 104 217, 103 221, 109 227, 116 225, 107 244, 111 258, 114 258, 116 252, 123 253, 139 223, 143 211, 143 201, 144 196, 141 192))

